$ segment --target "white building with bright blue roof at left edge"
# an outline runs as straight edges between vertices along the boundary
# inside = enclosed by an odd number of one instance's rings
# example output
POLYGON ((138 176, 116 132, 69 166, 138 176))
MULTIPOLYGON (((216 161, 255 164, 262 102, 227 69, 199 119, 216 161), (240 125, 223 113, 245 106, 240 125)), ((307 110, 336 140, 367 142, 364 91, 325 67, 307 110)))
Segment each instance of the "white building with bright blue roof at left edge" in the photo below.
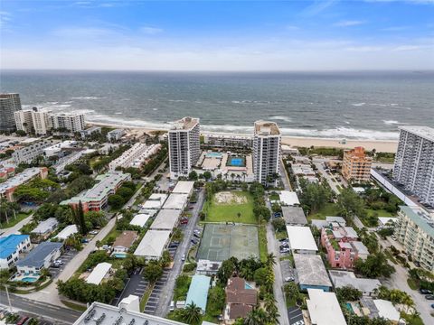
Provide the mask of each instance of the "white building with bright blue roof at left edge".
POLYGON ((29 235, 9 235, 0 237, 0 270, 8 270, 14 267, 20 254, 30 247, 29 235))

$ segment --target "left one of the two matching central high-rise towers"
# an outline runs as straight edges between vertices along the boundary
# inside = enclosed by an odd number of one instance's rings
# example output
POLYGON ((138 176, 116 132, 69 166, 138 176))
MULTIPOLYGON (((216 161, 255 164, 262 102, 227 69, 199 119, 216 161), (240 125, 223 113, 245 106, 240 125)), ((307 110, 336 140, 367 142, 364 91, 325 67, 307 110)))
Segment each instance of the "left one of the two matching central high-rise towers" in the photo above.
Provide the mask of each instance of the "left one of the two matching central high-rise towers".
POLYGON ((170 178, 188 176, 201 155, 199 118, 184 117, 168 133, 170 178))

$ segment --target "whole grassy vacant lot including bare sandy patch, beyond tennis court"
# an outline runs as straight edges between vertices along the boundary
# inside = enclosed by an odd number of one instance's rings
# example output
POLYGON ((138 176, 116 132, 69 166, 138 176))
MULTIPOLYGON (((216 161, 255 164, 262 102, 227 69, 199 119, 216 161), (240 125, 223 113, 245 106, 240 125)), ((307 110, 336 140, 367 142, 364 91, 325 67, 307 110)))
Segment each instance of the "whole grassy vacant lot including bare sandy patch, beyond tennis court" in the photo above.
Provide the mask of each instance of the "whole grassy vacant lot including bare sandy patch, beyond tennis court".
POLYGON ((224 191, 215 193, 205 208, 207 222, 239 222, 257 224, 253 215, 253 198, 249 192, 224 191), (241 216, 238 217, 238 213, 241 216))

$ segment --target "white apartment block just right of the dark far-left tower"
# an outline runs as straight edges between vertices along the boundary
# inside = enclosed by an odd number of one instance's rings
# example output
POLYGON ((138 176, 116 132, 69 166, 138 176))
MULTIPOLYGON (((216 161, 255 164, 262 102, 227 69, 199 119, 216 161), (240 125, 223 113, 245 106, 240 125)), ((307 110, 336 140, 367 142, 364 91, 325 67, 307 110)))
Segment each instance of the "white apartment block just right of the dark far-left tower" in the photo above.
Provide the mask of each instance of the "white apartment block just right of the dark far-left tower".
POLYGON ((50 110, 37 107, 16 111, 14 112, 16 129, 25 133, 46 135, 52 129, 49 114, 51 114, 50 110))

